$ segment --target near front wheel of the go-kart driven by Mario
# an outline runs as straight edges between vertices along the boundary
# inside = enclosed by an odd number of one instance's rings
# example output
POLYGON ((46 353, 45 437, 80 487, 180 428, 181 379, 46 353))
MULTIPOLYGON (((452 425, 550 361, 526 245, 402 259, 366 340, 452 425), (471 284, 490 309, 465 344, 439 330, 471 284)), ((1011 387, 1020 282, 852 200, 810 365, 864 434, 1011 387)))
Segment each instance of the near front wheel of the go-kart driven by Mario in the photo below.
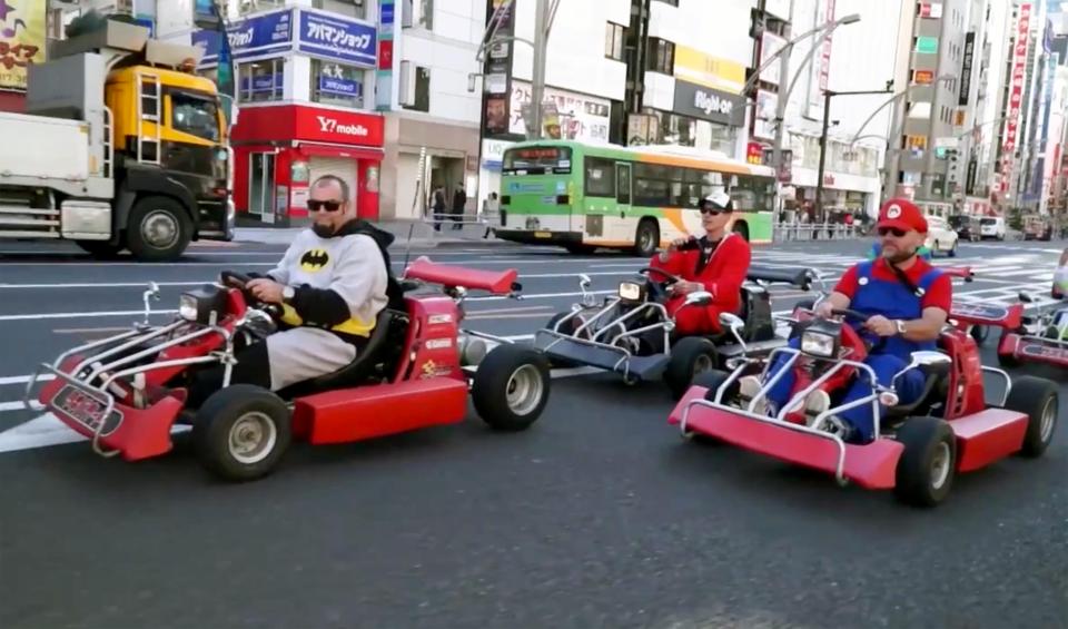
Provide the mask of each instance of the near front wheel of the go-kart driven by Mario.
POLYGON ((916 507, 934 507, 946 500, 957 474, 957 441, 939 417, 910 417, 898 430, 904 445, 898 460, 898 499, 916 507))

